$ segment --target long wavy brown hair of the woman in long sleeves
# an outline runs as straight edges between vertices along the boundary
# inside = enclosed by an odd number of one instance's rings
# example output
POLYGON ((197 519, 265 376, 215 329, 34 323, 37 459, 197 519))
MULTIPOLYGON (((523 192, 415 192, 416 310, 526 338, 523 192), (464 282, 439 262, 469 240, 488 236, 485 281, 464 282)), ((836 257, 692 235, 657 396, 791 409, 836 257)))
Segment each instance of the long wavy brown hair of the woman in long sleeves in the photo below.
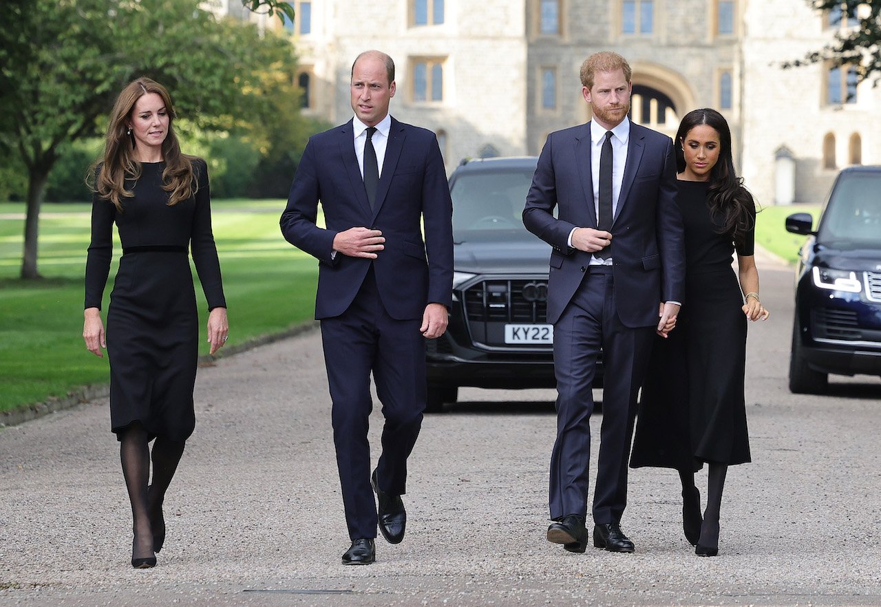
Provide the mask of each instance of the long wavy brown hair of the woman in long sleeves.
POLYGON ((137 181, 141 176, 141 163, 135 157, 135 137, 130 134, 129 124, 137 100, 150 93, 156 93, 162 98, 168 113, 168 132, 162 142, 162 159, 166 165, 162 171, 162 189, 169 192, 168 206, 187 200, 196 193, 198 187, 192 162, 195 157, 181 153, 181 144, 174 134, 172 122, 175 116, 171 95, 158 82, 150 78, 137 78, 122 89, 122 93, 116 98, 110 113, 110 123, 107 125, 104 158, 95 182, 95 191, 115 204, 119 211, 122 211, 122 199, 134 196, 130 189, 125 188, 125 182, 137 181))

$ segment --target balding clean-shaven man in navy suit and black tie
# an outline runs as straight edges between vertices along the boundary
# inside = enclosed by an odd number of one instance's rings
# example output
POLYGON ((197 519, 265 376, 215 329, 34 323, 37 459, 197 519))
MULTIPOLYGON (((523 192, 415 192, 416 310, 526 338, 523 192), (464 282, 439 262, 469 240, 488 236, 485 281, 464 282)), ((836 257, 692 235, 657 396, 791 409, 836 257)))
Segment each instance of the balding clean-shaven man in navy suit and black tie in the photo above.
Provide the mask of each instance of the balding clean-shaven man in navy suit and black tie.
POLYGON ((441 150, 433 132, 389 115, 394 95, 391 57, 359 55, 355 116, 309 138, 280 222, 285 239, 319 261, 315 318, 352 539, 344 565, 374 562, 377 522, 391 544, 403 539, 407 457, 426 406, 424 337, 443 335, 452 298, 453 210, 441 150), (315 225, 319 202, 325 228, 315 225), (385 418, 373 474, 371 373, 385 418))

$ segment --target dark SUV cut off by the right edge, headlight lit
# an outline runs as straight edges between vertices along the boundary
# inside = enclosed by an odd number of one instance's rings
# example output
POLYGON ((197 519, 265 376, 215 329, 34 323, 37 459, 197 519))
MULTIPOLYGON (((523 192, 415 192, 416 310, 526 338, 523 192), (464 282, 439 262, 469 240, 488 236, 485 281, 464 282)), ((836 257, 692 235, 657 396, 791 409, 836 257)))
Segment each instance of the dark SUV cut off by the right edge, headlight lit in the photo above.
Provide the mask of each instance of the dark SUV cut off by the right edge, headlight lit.
POLYGON ((881 167, 842 170, 816 232, 811 215, 786 219, 809 235, 796 270, 789 390, 825 391, 828 374, 881 375, 881 167))

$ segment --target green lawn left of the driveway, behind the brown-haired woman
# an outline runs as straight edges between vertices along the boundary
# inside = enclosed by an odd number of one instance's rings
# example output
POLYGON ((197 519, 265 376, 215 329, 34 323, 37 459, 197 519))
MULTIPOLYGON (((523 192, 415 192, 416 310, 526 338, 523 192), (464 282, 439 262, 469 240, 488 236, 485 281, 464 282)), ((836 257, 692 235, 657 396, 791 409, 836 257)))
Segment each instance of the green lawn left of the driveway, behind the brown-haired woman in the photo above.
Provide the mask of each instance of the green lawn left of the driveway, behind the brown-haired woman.
MULTIPOLYGON (((216 201, 215 240, 229 306, 228 344, 276 333, 313 317, 317 263, 278 231, 285 202, 216 201)), ((89 244, 89 204, 46 204, 40 221, 37 281, 19 280, 24 204, 0 204, 0 411, 78 386, 108 381, 107 357, 85 350, 83 274, 89 244)), ((118 260, 119 247, 115 248, 118 260)), ((112 289, 116 261, 104 296, 112 289)), ((195 275, 195 272, 194 272, 195 275)), ((196 287, 199 313, 207 311, 196 287)), ((221 351, 222 352, 222 351, 221 351)))

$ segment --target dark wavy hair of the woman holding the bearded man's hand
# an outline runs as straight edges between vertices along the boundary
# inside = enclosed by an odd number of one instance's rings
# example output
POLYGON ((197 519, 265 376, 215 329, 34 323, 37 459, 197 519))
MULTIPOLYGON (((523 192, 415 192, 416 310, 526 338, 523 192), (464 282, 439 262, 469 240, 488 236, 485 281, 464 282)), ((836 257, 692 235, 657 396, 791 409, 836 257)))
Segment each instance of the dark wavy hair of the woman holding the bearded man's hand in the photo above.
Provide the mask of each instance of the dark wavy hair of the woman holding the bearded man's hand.
POLYGON ((694 109, 679 123, 679 130, 673 144, 676 148, 677 173, 685 171, 685 152, 682 145, 685 137, 694 127, 706 124, 719 133, 719 160, 710 169, 707 205, 714 221, 719 226, 718 233, 730 234, 737 244, 743 244, 744 237, 756 222, 756 204, 749 190, 744 188, 743 177, 734 171, 731 157, 731 130, 728 121, 719 112, 709 107, 694 109))

